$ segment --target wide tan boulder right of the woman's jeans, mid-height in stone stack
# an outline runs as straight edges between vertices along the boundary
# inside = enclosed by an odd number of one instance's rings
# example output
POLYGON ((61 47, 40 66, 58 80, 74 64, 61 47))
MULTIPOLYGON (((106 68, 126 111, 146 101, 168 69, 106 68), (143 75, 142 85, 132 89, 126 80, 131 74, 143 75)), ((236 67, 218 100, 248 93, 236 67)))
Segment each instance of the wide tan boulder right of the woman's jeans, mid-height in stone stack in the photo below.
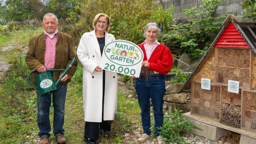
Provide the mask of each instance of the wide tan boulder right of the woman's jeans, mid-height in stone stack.
POLYGON ((175 93, 175 94, 165 95, 163 100, 171 103, 186 103, 187 93, 175 93))

